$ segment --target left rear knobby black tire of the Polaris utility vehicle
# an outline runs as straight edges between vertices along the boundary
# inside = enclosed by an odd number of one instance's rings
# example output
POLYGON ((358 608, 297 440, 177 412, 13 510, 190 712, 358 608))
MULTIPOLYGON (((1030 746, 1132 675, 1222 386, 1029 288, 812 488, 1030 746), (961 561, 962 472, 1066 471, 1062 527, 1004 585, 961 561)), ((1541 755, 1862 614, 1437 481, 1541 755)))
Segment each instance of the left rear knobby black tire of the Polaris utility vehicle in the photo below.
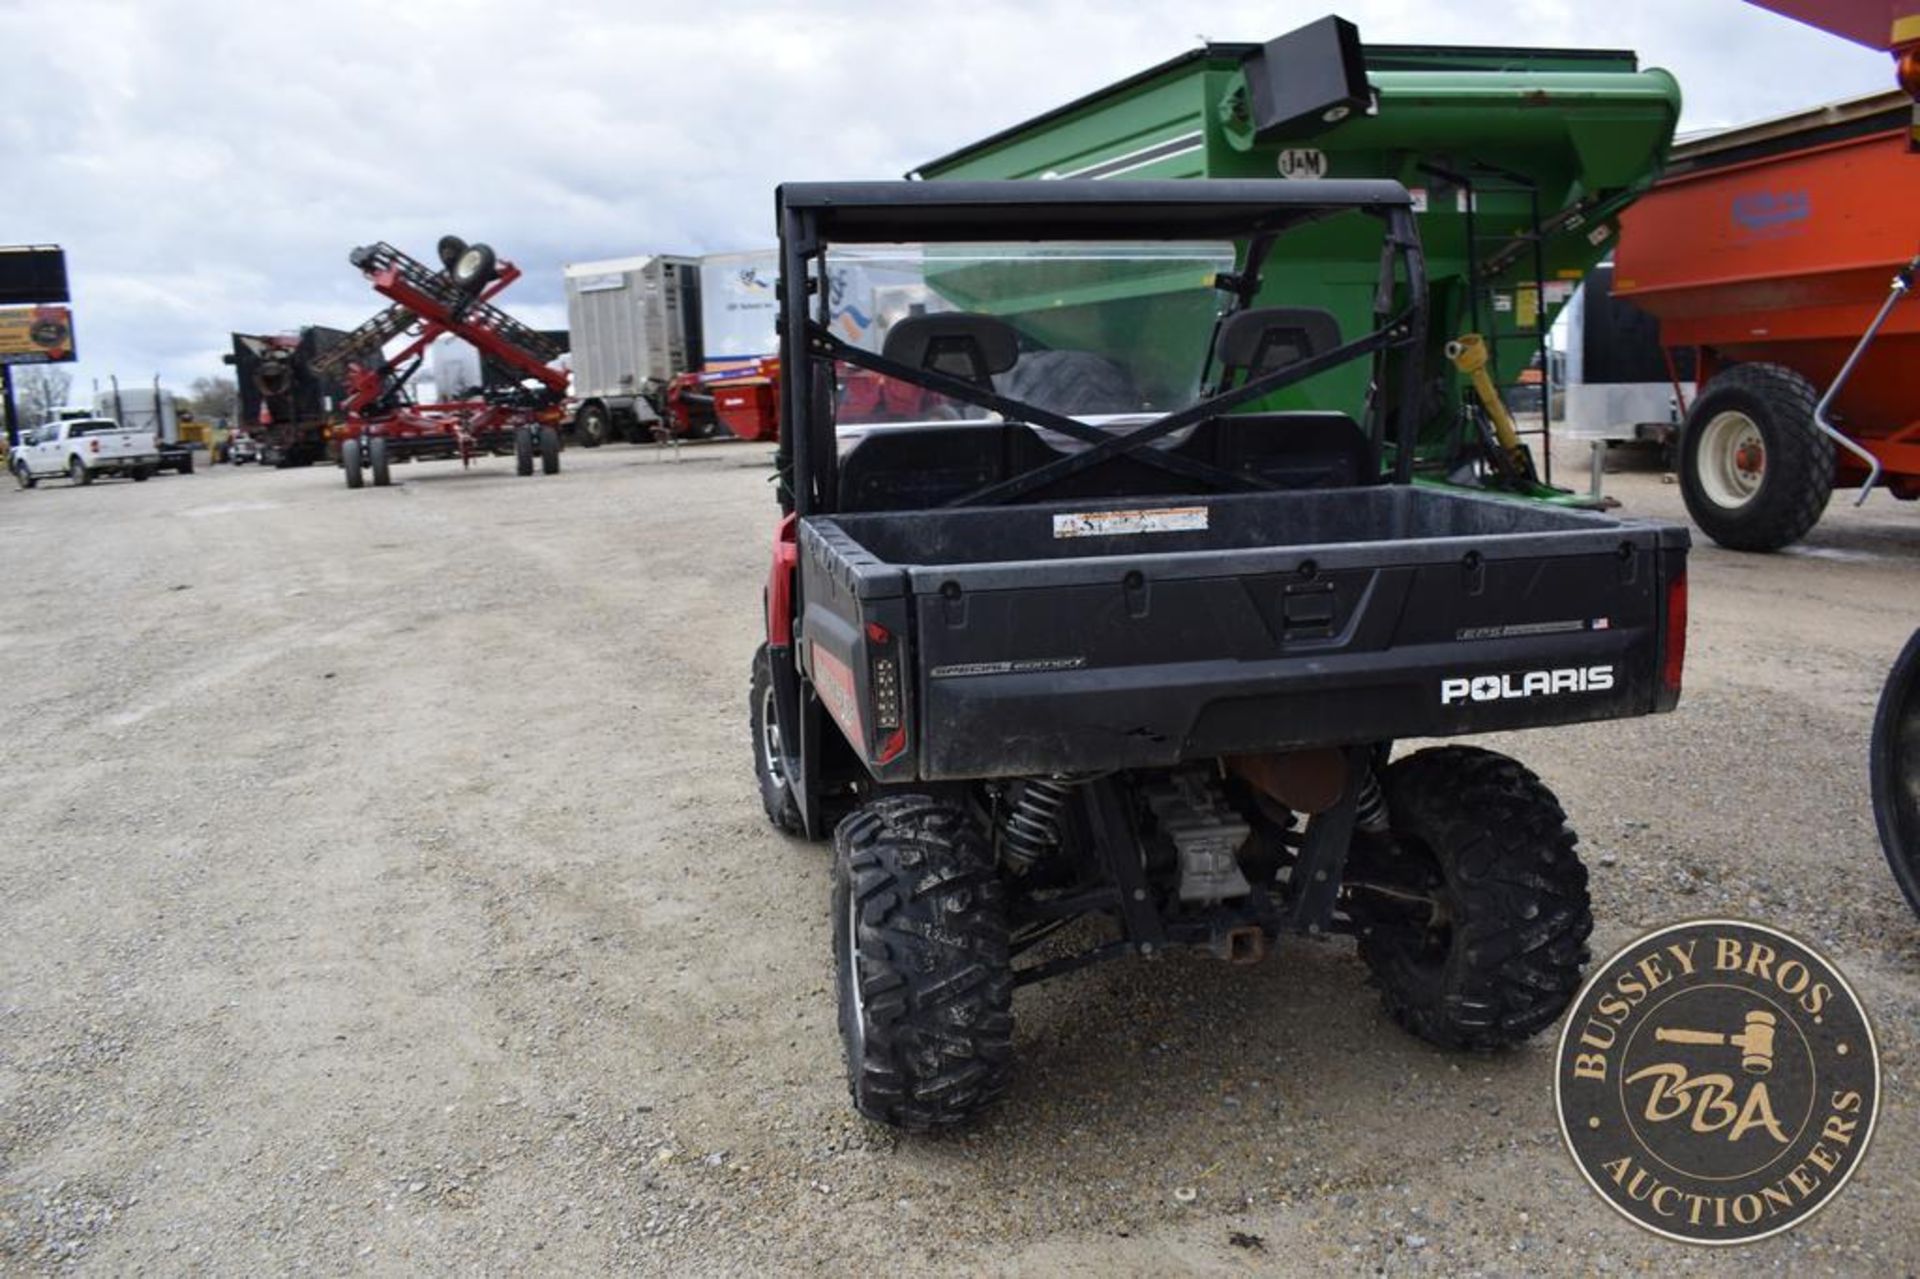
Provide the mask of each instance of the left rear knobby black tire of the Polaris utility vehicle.
POLYGON ((833 832, 833 970, 854 1108, 908 1131, 1006 1091, 1014 966, 993 853, 964 808, 887 795, 833 832))

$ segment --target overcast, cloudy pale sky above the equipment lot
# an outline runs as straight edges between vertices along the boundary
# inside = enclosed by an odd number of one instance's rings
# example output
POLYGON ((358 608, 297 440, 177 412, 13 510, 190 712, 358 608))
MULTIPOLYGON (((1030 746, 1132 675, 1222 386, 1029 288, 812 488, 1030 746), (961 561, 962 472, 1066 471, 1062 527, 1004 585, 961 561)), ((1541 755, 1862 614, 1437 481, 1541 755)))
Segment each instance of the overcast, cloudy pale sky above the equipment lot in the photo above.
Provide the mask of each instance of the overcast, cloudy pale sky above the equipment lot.
POLYGON ((359 323, 371 240, 488 240, 526 271, 501 302, 563 326, 566 261, 770 244, 783 179, 899 177, 1327 12, 1375 42, 1632 48, 1680 79, 1682 129, 1893 84, 1741 0, 0 0, 0 244, 65 246, 79 392, 359 323))

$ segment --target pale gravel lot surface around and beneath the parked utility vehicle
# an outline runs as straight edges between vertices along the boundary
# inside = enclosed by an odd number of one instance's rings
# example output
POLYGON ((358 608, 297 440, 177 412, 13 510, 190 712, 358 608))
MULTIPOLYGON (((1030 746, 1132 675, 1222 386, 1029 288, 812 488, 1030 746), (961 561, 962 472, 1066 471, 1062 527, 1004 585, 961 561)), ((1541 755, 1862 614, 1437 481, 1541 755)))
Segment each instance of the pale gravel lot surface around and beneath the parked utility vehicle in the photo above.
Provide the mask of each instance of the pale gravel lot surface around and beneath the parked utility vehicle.
MULTIPOLYGON (((828 858, 745 730, 762 446, 0 492, 0 1266, 21 1271, 1920 1267, 1920 928, 1866 801, 1920 511, 1693 553, 1670 716, 1501 741, 1596 951, 1692 914, 1824 947, 1876 1020, 1851 1187, 1732 1254, 1576 1177, 1546 1039, 1450 1058, 1346 941, 1025 991, 1012 1097, 847 1106, 828 858)), ((1680 515, 1657 472, 1630 513, 1680 515)))

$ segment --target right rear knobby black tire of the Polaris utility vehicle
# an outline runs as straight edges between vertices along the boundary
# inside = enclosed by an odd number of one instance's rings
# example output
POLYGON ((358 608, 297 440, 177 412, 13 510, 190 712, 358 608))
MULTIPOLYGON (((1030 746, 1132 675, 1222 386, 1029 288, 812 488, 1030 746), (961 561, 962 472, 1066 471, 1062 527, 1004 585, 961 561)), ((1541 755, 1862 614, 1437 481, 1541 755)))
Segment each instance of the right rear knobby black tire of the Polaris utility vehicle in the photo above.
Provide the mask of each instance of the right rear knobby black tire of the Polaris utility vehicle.
POLYGON ((1384 776, 1400 857, 1438 903, 1363 920, 1359 954, 1388 1016, 1442 1049, 1488 1052, 1546 1029, 1580 989, 1594 912, 1553 793, 1505 755, 1436 747, 1384 776))

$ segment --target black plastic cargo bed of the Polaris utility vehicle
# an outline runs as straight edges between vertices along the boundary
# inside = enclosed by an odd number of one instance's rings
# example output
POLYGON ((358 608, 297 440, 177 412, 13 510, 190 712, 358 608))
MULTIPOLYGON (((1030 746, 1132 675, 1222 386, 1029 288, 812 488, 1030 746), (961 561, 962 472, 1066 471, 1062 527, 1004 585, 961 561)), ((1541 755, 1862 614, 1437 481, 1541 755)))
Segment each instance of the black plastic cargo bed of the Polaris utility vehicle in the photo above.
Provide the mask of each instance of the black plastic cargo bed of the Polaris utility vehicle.
POLYGON ((1419 486, 812 517, 803 634, 852 672, 868 624, 906 636, 914 749, 879 776, 1165 766, 1661 709, 1684 551, 1419 486))

